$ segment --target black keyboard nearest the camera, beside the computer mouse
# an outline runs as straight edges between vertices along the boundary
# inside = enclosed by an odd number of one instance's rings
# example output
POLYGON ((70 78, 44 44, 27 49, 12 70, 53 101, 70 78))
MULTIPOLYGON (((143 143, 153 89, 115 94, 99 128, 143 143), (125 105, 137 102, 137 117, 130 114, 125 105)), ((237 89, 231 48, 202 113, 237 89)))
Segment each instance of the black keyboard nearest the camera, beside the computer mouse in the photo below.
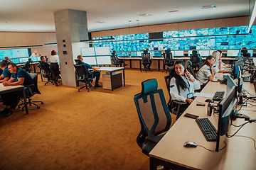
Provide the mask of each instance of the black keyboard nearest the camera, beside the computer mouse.
POLYGON ((213 124, 210 123, 208 118, 198 118, 196 123, 203 132, 203 135, 206 137, 207 141, 216 141, 217 140, 217 130, 214 128, 213 124))

